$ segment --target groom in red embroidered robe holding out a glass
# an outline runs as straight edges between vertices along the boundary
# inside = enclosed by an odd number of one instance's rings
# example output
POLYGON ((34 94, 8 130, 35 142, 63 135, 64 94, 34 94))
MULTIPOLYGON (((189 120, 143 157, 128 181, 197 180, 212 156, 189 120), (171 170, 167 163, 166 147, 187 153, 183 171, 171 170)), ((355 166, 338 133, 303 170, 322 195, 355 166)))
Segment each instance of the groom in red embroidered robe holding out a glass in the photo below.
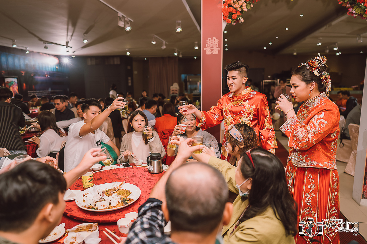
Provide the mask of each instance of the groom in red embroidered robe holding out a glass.
MULTIPOLYGON (((213 127, 223 120, 226 130, 230 124, 247 124, 255 129, 262 148, 275 153, 277 143, 268 100, 264 94, 246 86, 248 70, 248 65, 240 61, 227 65, 227 85, 230 93, 223 95, 217 106, 211 107, 208 112, 201 112, 193 104, 179 107, 180 112, 183 115, 195 114, 196 125, 201 129, 213 127), (187 111, 183 112, 183 107, 187 107, 187 111)), ((222 155, 225 158, 228 156, 224 143, 222 155)))

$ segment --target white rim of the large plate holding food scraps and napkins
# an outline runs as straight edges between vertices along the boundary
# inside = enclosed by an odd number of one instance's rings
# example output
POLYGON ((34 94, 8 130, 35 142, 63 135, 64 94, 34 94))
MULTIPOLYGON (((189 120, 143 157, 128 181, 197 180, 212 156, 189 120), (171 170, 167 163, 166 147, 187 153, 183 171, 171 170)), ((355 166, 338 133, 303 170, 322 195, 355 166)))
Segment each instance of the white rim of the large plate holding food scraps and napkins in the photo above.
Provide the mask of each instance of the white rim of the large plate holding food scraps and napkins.
MULTIPOLYGON (((99 185, 101 187, 101 189, 111 189, 113 188, 113 185, 116 184, 116 182, 112 182, 112 183, 105 183, 105 184, 101 184, 99 185)), ((141 191, 140 191, 140 188, 137 187, 136 185, 133 185, 133 184, 129 184, 129 183, 125 183, 123 188, 121 189, 127 189, 131 192, 129 198, 133 199, 133 201, 127 205, 124 205, 124 206, 121 206, 121 207, 116 207, 116 208, 113 208, 113 209, 101 209, 101 210, 98 210, 98 209, 87 209, 85 207, 82 207, 81 204, 83 203, 83 196, 87 193, 87 192, 90 192, 91 190, 93 189, 93 187, 90 187, 86 190, 84 190, 83 192, 81 192, 81 194, 79 194, 77 196, 77 198, 75 199, 75 203, 78 207, 80 207, 81 209, 84 209, 84 210, 87 210, 87 211, 92 211, 92 212, 108 212, 108 211, 114 211, 114 210, 117 210, 117 209, 122 209, 126 206, 129 206, 130 204, 134 203, 136 200, 138 200, 140 194, 141 194, 141 191)))

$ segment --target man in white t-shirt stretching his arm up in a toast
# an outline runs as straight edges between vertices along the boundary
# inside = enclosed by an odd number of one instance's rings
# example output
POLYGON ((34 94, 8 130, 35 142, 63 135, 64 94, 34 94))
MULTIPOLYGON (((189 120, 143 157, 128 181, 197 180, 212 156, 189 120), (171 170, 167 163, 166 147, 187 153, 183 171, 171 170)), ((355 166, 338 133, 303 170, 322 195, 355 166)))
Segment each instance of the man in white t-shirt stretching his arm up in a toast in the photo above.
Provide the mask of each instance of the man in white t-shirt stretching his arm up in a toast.
POLYGON ((101 104, 94 98, 87 99, 81 105, 84 120, 69 127, 64 152, 65 172, 75 168, 88 150, 101 148, 102 142, 111 146, 116 154, 120 155, 120 150, 103 131, 99 130, 99 127, 113 110, 124 107, 125 102, 122 100, 123 98, 116 98, 103 112, 101 104))

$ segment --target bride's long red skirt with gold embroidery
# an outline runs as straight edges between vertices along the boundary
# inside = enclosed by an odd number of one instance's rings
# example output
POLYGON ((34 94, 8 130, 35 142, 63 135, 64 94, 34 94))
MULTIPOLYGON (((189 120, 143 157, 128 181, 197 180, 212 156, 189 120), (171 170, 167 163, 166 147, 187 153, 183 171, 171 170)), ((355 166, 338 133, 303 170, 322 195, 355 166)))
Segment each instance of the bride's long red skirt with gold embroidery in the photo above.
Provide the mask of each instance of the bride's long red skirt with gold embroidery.
MULTIPOLYGON (((299 222, 306 223, 311 218, 316 223, 323 222, 323 219, 339 219, 339 175, 336 169, 297 167, 289 161, 286 174, 288 189, 298 204, 299 222)), ((300 236, 301 227, 295 236, 296 243, 309 243, 309 238, 323 244, 339 243, 339 232, 335 229, 322 228, 322 235, 320 231, 319 236, 313 236, 316 228, 310 228, 309 235, 300 236)))

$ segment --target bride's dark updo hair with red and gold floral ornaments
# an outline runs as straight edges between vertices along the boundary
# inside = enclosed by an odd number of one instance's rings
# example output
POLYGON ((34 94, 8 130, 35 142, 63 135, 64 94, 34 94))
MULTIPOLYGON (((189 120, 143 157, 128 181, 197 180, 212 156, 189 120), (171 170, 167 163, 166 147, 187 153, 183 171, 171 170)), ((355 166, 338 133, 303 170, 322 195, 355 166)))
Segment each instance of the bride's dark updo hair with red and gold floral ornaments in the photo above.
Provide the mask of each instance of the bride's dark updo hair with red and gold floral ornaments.
POLYGON ((323 80, 323 74, 327 72, 326 58, 323 56, 319 60, 319 57, 309 59, 306 63, 301 63, 297 69, 292 71, 292 75, 296 75, 298 79, 307 85, 315 82, 320 93, 326 93, 327 82, 323 80))

